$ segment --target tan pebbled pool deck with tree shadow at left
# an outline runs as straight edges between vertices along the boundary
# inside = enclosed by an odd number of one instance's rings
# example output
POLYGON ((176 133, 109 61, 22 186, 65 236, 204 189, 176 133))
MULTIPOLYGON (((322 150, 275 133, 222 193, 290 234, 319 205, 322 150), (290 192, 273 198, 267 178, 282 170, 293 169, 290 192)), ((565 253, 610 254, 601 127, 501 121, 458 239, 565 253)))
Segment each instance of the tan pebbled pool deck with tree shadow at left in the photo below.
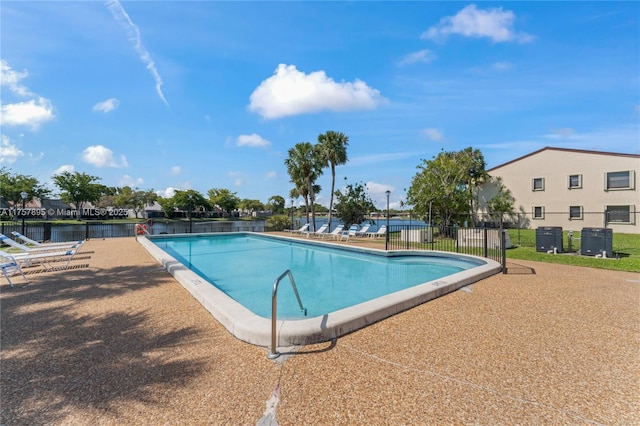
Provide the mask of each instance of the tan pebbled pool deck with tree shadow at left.
POLYGON ((271 361, 134 238, 85 245, 0 279, 3 425, 640 424, 637 273, 517 261, 271 361))

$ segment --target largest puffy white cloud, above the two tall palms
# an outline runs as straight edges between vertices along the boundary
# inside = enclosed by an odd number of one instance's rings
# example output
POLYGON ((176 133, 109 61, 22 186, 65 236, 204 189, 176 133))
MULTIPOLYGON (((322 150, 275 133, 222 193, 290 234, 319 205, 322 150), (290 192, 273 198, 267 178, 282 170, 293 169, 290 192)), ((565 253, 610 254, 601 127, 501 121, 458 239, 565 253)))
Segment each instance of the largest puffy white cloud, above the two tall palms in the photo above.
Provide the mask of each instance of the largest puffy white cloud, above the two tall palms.
POLYGON ((305 74, 280 64, 251 94, 248 109, 273 119, 320 111, 374 109, 386 103, 380 91, 361 80, 337 83, 324 71, 305 74))

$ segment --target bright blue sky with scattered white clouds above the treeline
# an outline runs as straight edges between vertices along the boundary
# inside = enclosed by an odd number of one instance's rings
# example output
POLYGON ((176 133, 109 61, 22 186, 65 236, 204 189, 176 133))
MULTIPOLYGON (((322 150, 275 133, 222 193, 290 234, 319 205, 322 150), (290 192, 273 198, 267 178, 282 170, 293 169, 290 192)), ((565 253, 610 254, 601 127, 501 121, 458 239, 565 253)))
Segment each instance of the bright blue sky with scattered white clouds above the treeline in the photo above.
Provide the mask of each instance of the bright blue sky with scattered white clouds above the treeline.
MULTIPOLYGON (((422 159, 640 153, 638 2, 0 3, 0 166, 288 197, 287 150, 404 199, 422 159)), ((346 178, 346 180, 345 180, 346 178)), ((330 172, 319 183, 328 205, 330 172)), ((287 204, 288 205, 288 204, 287 204)))

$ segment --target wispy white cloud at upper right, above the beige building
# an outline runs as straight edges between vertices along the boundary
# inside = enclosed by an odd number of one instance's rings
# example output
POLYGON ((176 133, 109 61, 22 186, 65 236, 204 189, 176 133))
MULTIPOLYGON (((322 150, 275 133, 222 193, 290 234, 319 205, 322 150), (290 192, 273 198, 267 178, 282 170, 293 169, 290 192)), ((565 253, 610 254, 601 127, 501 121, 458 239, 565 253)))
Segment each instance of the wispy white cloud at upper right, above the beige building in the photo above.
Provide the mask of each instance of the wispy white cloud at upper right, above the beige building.
POLYGON ((465 37, 488 37, 495 43, 518 41, 527 43, 533 37, 526 33, 516 33, 513 30, 515 14, 503 11, 502 8, 480 10, 475 4, 470 4, 454 16, 447 16, 422 33, 422 39, 441 39, 449 34, 459 34, 465 37))

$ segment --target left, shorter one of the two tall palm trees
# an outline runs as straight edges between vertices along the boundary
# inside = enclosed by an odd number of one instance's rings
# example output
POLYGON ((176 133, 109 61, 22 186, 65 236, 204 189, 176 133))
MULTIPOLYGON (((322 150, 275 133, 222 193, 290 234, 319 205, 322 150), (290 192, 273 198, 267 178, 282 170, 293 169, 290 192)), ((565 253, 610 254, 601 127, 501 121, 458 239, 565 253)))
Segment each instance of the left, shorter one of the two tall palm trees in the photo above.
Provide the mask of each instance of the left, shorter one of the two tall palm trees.
POLYGON ((287 173, 291 178, 291 183, 295 185, 298 193, 304 197, 307 210, 307 221, 309 220, 309 204, 311 204, 311 217, 313 229, 316 229, 316 209, 315 194, 319 191, 319 186, 315 185, 316 179, 322 175, 322 163, 318 161, 311 142, 299 142, 288 151, 289 157, 284 160, 287 166, 287 173))

